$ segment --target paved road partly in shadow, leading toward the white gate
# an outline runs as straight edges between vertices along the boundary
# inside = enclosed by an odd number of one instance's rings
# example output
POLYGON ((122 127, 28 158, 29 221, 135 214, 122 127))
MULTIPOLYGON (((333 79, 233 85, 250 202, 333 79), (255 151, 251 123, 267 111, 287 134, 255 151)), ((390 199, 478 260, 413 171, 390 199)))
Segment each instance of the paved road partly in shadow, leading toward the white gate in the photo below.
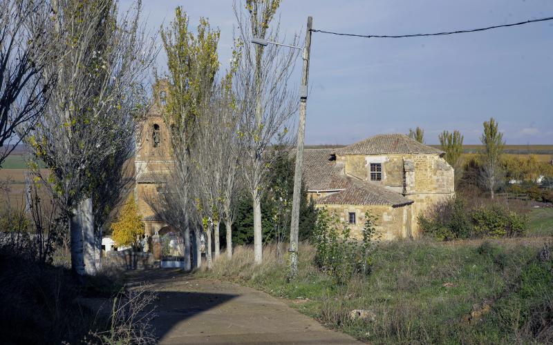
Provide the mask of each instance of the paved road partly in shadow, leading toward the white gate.
POLYGON ((153 326, 161 344, 357 344, 252 288, 175 270, 137 271, 129 277, 158 291, 153 326))

